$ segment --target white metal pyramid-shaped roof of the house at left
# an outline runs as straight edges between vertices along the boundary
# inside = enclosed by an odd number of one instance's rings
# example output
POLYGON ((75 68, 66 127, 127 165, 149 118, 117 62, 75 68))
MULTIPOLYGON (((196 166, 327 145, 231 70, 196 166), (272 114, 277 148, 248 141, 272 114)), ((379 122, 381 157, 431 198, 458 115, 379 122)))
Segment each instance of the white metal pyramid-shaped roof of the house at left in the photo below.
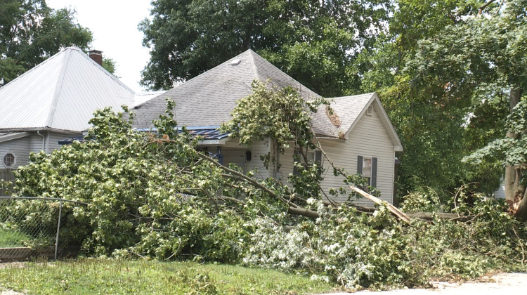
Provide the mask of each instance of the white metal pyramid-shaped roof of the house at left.
POLYGON ((82 131, 96 109, 134 106, 134 91, 70 47, 1 87, 0 105, 0 131, 82 131))

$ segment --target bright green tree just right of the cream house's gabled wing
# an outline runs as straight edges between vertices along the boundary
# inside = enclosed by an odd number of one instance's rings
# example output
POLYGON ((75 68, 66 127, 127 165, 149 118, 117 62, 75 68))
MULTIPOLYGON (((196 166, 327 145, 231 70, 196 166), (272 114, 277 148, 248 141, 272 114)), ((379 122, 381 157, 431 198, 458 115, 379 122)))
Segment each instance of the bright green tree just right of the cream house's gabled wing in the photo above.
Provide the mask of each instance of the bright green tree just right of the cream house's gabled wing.
POLYGON ((475 64, 483 48, 460 37, 468 34, 467 23, 474 22, 483 4, 398 1, 389 34, 358 58, 370 69, 361 89, 380 93, 405 147, 398 155, 401 195, 423 185, 443 195, 472 181, 483 183, 480 188, 488 193, 497 188, 499 169, 461 163, 464 155, 505 134, 500 123, 507 116, 506 91, 491 85, 499 79, 474 77, 481 71, 468 65, 475 64))

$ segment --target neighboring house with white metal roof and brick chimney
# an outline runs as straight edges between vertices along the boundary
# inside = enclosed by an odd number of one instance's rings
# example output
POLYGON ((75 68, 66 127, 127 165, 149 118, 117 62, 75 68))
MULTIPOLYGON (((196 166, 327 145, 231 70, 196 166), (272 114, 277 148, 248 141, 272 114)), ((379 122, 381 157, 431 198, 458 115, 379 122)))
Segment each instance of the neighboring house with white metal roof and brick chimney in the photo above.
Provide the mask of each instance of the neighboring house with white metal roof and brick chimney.
POLYGON ((0 179, 11 180, 30 152, 82 134, 94 110, 135 105, 134 91, 100 66, 100 53, 65 48, 0 88, 0 179))

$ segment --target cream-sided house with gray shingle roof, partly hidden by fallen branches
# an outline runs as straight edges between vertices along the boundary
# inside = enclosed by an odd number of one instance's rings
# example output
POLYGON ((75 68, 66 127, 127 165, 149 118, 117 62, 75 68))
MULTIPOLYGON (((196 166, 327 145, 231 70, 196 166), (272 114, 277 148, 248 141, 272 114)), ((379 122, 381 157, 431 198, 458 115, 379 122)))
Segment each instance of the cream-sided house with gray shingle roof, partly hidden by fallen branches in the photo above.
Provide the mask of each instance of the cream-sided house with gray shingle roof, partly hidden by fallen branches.
MULTIPOLYGON (((259 80, 275 87, 292 86, 301 96, 310 100, 319 97, 261 56, 248 50, 225 63, 178 85, 166 93, 135 107, 135 127, 153 129, 152 120, 166 110, 165 98, 176 103, 174 115, 180 126, 194 134, 203 135, 200 147, 221 155, 223 164, 234 163, 244 171, 257 169, 259 177, 287 180, 293 173, 293 150, 280 155, 277 166, 266 169, 260 157, 273 151, 273 143, 261 140, 251 150, 228 134, 220 133, 219 126, 230 119, 236 102, 251 93, 252 81, 259 80)), ((320 138, 323 150, 332 161, 349 173, 362 173, 381 191, 381 198, 393 202, 395 153, 403 146, 376 93, 332 98, 331 108, 339 119, 330 119, 325 109, 313 114, 313 131, 320 138)), ((332 116, 334 117, 334 116, 332 116)), ((310 152, 313 159, 320 153, 310 152)), ((327 161, 322 161, 329 168, 327 161)), ((342 177, 326 169, 323 190, 343 186, 342 177)), ((337 200, 343 201, 343 200, 337 200)), ((369 204, 359 200, 358 204, 369 204)))

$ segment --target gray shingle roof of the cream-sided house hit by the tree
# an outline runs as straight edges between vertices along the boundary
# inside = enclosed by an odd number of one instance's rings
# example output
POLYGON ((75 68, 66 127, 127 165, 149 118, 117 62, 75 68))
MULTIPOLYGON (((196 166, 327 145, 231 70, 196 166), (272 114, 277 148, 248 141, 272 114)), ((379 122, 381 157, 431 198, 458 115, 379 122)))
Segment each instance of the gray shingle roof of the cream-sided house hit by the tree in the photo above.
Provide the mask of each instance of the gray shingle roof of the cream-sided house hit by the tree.
MULTIPOLYGON (((306 100, 320 97, 254 51, 248 50, 136 106, 135 127, 152 128, 152 120, 158 119, 167 107, 167 97, 176 103, 174 115, 178 125, 219 126, 230 119, 230 112, 234 110, 236 102, 251 93, 254 80, 271 81, 278 88, 292 86, 306 100)), ((313 131, 319 136, 338 138, 339 133, 346 133, 351 128, 374 96, 375 93, 367 93, 334 98, 331 107, 339 115, 341 125, 335 126, 327 116, 325 107, 321 106, 313 114, 313 131)))

